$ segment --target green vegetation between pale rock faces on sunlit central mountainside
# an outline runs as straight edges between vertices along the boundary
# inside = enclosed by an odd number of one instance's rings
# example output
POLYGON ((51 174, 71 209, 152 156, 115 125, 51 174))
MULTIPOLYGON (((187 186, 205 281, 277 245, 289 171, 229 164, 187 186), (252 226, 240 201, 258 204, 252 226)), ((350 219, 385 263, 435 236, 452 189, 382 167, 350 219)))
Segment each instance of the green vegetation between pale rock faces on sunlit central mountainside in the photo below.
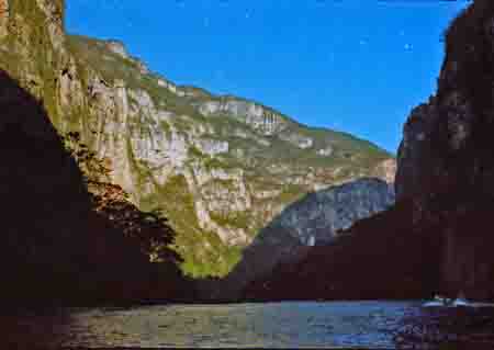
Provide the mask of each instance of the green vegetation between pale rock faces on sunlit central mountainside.
MULTIPOLYGON (((303 177, 310 168, 323 171, 324 181, 336 181, 351 174, 369 173, 369 170, 379 161, 390 157, 371 143, 344 133, 306 127, 267 106, 265 109, 268 118, 269 115, 278 115, 284 124, 283 131, 273 136, 262 135, 242 120, 228 114, 218 113, 205 117, 198 111, 198 104, 204 101, 252 101, 231 95, 217 97, 197 87, 177 87, 179 91, 186 93, 181 97, 159 84, 160 80, 168 83, 166 78, 153 72, 142 74, 135 59, 124 58, 111 52, 104 41, 71 35, 68 36, 67 42, 69 49, 78 58, 79 74, 86 86, 89 83, 88 76, 92 76, 89 71, 94 70, 110 87, 116 80, 123 80, 132 90, 146 91, 156 106, 171 112, 172 116, 169 121, 159 122, 167 138, 171 138, 171 133, 177 131, 186 139, 206 137, 228 142, 229 151, 214 157, 189 145, 189 159, 186 165, 201 166, 205 170, 243 169, 245 182, 252 191, 281 190, 281 193, 273 199, 255 200, 257 201, 255 205, 269 204, 268 202, 289 205, 302 197, 308 191, 307 185, 283 183, 285 183, 285 177, 303 177), (212 133, 203 136, 194 135, 193 129, 197 123, 206 126, 206 129, 212 129, 212 133), (313 146, 302 149, 282 139, 290 135, 311 138, 313 146), (263 144, 266 142, 269 144, 263 144), (329 157, 317 154, 318 149, 327 147, 334 150, 329 157), (234 150, 239 150, 239 155, 234 150), (268 170, 270 167, 282 167, 288 172, 273 176, 268 170), (332 172, 336 168, 341 169, 338 174, 333 176, 332 172)), ((131 97, 131 103, 136 104, 137 101, 131 97)), ((90 123, 85 114, 87 113, 83 110, 78 111, 72 118, 75 122, 80 118, 82 123, 90 123)), ((81 124, 80 121, 79 123, 81 124)), ((151 128, 146 123, 154 123, 154 121, 149 116, 141 115, 138 120, 133 121, 132 131, 134 134, 142 135, 143 138, 153 138, 151 128)), ((172 248, 183 258, 182 270, 192 276, 222 276, 228 273, 240 258, 240 248, 228 247, 222 242, 216 233, 201 229, 194 208, 194 196, 200 194, 193 191, 198 189, 189 188, 183 176, 171 177, 165 184, 157 183, 150 166, 135 159, 131 140, 126 142, 132 177, 136 184, 134 199, 138 199, 139 208, 156 211, 169 218, 170 225, 177 232, 172 248)), ((225 188, 229 183, 225 181, 221 182, 221 185, 225 188)), ((252 212, 225 215, 210 213, 210 216, 222 227, 244 228, 252 236, 267 225, 252 212)))

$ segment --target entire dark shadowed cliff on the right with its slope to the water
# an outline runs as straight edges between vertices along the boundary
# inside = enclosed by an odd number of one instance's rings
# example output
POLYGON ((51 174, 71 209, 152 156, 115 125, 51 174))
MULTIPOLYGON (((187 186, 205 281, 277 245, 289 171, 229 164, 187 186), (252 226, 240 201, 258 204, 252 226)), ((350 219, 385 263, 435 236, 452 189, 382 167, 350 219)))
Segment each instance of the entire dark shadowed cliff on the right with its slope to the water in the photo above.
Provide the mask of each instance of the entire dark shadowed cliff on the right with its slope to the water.
POLYGON ((404 126, 396 205, 277 267, 246 296, 494 300, 493 67, 494 3, 475 0, 446 31, 437 94, 404 126))

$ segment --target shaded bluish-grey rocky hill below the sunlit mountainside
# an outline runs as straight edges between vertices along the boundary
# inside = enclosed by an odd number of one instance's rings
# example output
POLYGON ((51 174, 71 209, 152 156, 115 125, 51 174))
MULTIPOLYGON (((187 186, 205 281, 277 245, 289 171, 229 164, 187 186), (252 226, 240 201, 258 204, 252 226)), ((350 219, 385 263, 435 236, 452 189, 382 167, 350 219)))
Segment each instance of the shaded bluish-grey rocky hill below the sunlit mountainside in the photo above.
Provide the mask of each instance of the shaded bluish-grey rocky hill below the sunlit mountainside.
POLYGON ((284 208, 259 233, 225 280, 201 285, 203 297, 242 300, 244 287, 256 280, 269 281, 277 266, 296 264, 312 247, 334 241, 357 221, 393 204, 393 187, 378 179, 361 179, 310 193, 284 208))

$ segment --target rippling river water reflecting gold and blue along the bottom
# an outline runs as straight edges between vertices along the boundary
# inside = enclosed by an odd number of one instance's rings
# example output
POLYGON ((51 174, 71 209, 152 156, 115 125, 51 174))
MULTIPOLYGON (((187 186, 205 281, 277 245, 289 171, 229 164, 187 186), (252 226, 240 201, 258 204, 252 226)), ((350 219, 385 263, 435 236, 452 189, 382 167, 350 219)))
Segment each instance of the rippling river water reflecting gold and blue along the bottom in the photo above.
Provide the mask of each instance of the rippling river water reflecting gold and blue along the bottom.
MULTIPOLYGON (((395 349, 434 345, 437 339, 408 336, 417 326, 424 328, 429 323, 431 326, 427 327, 436 327, 438 317, 448 325, 454 317, 489 324, 492 313, 490 309, 469 312, 468 317, 458 313, 444 315, 422 305, 422 302, 308 302, 37 309, 0 316, 0 326, 11 347, 395 349)), ((430 329, 435 337, 441 331, 453 332, 430 329)), ((490 341, 485 337, 491 336, 467 339, 454 335, 450 339, 463 345, 465 341, 485 345, 490 341)))

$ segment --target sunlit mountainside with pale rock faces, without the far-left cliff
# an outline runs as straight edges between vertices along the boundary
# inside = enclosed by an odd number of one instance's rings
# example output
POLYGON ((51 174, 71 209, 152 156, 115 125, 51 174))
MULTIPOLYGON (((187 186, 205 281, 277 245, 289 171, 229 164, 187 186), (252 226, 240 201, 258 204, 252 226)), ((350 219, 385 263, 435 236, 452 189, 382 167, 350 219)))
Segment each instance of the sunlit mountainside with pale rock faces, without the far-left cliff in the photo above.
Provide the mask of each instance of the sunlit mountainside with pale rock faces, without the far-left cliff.
POLYGON ((255 102, 177 87, 154 75, 135 80, 143 77, 142 67, 122 54, 121 44, 106 49, 108 42, 78 36, 68 42, 78 59, 61 79, 60 108, 71 116, 60 128, 79 132, 99 157, 112 160, 110 181, 134 203, 170 217, 181 255, 195 260, 186 269, 195 274, 225 274, 233 264, 220 251, 247 246, 311 190, 373 174, 391 159, 379 148, 352 153, 347 148, 358 139, 312 131, 255 102), (330 155, 317 153, 329 148, 330 155), (310 160, 293 162, 293 157, 310 160), (372 166, 361 166, 362 159, 372 166), (183 203, 188 199, 190 205, 183 203), (192 233, 197 244, 190 246, 192 233))

